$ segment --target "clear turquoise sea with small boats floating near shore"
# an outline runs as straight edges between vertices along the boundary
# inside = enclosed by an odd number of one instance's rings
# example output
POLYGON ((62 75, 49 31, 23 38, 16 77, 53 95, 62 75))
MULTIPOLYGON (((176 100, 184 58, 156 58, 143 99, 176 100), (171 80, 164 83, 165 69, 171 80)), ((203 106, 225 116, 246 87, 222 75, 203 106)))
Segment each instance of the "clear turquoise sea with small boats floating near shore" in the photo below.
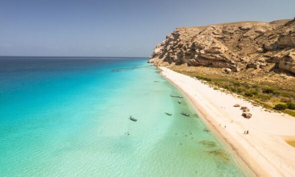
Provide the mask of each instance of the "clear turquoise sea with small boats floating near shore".
POLYGON ((244 176, 146 60, 0 57, 0 175, 244 176))

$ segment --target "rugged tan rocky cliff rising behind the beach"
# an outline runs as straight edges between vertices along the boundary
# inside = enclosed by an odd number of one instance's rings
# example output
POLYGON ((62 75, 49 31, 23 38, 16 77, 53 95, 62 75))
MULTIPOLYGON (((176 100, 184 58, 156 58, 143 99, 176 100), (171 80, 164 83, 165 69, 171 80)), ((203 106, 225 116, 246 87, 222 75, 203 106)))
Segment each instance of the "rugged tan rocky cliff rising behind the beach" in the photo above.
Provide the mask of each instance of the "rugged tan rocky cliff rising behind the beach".
POLYGON ((156 45, 149 62, 234 71, 276 63, 275 68, 295 73, 295 18, 176 28, 156 45))

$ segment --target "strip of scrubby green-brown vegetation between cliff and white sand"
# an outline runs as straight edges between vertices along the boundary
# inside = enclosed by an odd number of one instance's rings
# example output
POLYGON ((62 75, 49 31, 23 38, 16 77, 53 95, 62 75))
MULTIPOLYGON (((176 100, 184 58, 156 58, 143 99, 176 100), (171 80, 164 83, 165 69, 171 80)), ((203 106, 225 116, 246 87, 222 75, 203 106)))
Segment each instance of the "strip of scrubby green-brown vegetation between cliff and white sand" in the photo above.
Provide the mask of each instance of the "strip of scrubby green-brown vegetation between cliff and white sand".
POLYGON ((183 66, 174 66, 171 69, 206 81, 207 84, 216 86, 214 89, 224 88, 229 92, 245 96, 266 108, 273 108, 276 111, 295 116, 293 82, 278 84, 277 82, 261 81, 261 79, 255 80, 256 78, 252 77, 237 78, 236 74, 220 74, 217 69, 211 71, 214 68, 199 67, 193 71, 186 71, 183 66))

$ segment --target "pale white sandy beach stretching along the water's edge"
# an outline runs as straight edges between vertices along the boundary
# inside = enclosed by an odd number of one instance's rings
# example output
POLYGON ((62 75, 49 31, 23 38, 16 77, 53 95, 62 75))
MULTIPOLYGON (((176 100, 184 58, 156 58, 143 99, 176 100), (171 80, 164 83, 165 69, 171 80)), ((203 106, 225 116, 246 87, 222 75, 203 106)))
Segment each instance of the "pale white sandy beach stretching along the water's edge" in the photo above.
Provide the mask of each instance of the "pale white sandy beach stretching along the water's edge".
POLYGON ((295 137, 295 117, 265 111, 197 79, 160 68, 162 75, 188 96, 204 120, 256 175, 295 176, 295 147, 285 142, 295 137), (236 103, 249 107, 252 117, 241 116, 240 107, 233 106, 236 103), (243 134, 245 130, 249 134, 243 134))

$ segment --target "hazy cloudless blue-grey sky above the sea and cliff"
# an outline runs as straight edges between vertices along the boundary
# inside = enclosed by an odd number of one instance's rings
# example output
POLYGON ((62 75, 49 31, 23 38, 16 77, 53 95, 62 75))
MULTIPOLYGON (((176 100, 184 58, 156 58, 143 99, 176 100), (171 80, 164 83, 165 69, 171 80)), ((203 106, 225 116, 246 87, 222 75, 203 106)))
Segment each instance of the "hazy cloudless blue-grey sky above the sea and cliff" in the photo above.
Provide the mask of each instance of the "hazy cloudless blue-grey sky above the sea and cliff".
POLYGON ((149 56, 175 27, 294 16, 295 0, 0 0, 0 55, 149 56))

